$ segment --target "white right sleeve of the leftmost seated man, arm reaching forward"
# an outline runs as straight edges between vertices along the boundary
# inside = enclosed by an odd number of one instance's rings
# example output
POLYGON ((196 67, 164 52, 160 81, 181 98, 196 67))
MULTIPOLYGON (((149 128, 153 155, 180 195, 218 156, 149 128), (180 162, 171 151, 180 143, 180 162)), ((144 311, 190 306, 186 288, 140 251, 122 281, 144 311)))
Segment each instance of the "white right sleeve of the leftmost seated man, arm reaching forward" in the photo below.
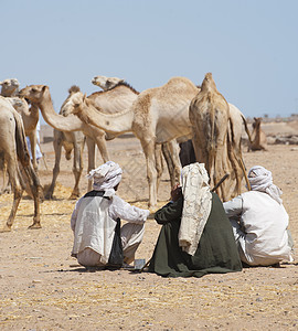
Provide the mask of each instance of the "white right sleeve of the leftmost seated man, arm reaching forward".
POLYGON ((113 196, 108 213, 113 220, 121 218, 130 223, 145 223, 150 214, 148 210, 130 205, 117 195, 113 196))

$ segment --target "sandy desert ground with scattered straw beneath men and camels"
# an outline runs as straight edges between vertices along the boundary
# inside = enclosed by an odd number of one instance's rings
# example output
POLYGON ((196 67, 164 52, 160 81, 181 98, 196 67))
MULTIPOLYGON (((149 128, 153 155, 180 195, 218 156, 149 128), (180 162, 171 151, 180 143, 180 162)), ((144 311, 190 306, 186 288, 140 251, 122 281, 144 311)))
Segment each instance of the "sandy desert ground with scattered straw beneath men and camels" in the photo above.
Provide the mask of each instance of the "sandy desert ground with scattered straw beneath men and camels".
MULTIPOLYGON (((296 127, 297 129, 297 127, 296 127)), ((270 127, 269 131, 279 130, 270 127)), ((283 127, 283 130, 287 130, 283 127)), ((125 173, 118 194, 146 207, 148 185, 139 141, 131 137, 108 142, 111 159, 125 173)), ((40 164, 43 185, 52 179, 52 142, 43 143, 40 164)), ((86 153, 85 164, 86 162, 86 153)), ((102 162, 98 157, 98 163, 102 162)), ((272 170, 284 191, 290 231, 298 243, 298 146, 269 146, 267 152, 244 152, 247 168, 262 164, 272 170)), ((86 170, 84 169, 84 174, 86 170)), ((11 233, 0 234, 1 330, 297 330, 298 265, 247 268, 242 273, 203 278, 161 278, 127 270, 87 273, 71 257, 73 234, 70 217, 72 161, 62 160, 54 201, 41 206, 42 228, 28 229, 33 202, 24 197, 11 233)), ((82 178, 82 194, 87 181, 82 178)), ((163 172, 158 206, 170 192, 163 172)), ((6 222, 12 195, 0 196, 6 222)), ((151 257, 159 233, 152 218, 137 258, 151 257)))

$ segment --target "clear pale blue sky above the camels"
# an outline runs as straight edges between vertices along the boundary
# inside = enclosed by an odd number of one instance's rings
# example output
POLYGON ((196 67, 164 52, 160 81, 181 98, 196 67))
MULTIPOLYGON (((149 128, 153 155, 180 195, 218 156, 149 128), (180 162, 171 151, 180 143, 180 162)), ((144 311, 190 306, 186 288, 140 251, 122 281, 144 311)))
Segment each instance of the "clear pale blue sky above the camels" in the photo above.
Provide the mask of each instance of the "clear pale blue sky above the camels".
MULTIPOLYGON (((298 113, 296 0, 0 0, 0 79, 50 86, 58 111, 96 75, 137 90, 172 76, 217 89, 245 116, 298 113)), ((42 124, 44 121, 42 120, 42 124)))

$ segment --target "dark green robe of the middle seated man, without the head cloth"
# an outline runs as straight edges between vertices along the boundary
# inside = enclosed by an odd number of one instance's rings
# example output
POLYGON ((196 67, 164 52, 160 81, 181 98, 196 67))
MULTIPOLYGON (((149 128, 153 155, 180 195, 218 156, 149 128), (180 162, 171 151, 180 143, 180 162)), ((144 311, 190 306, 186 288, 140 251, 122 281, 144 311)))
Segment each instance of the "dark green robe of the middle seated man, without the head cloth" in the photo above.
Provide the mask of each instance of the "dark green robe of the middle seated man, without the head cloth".
POLYGON ((149 271, 164 277, 202 277, 242 270, 231 223, 223 204, 212 193, 211 213, 194 256, 179 246, 183 197, 156 212, 155 218, 163 224, 149 265, 149 271))

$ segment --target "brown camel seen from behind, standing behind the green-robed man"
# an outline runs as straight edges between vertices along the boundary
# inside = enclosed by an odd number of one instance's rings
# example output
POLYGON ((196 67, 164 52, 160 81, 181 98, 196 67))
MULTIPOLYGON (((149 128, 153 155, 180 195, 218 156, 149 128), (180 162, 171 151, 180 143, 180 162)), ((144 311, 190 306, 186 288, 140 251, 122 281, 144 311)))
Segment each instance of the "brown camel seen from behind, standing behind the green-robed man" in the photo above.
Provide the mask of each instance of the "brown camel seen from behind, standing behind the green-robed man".
POLYGON ((236 111, 237 108, 231 110, 231 105, 219 93, 212 74, 207 73, 200 93, 191 102, 189 116, 196 160, 205 164, 210 185, 215 186, 225 173, 231 174, 216 190, 223 201, 241 193, 242 172, 245 175, 241 152, 242 126, 237 125, 238 132, 234 132, 235 119, 231 118, 231 114, 236 111), (232 193, 231 186, 234 186, 232 193))

